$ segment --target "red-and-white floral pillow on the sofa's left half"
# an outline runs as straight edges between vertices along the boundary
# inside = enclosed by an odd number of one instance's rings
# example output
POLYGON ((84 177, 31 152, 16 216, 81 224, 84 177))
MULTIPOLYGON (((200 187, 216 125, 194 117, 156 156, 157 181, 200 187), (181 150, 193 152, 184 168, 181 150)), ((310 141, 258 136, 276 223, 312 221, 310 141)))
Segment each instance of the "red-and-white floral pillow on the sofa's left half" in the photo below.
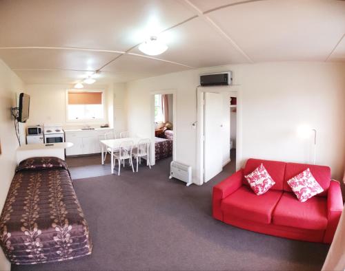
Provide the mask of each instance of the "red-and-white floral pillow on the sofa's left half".
POLYGON ((270 177, 263 164, 260 164, 255 171, 244 177, 248 181, 250 188, 258 196, 266 193, 269 188, 275 185, 275 181, 270 177))

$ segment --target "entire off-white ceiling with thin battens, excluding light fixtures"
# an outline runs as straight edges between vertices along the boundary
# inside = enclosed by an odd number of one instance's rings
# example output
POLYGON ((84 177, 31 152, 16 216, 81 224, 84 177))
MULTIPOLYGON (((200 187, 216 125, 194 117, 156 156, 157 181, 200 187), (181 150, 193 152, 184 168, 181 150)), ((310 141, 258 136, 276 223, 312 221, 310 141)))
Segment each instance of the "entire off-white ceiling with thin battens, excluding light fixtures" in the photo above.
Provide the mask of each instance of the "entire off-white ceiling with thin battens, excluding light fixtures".
POLYGON ((26 83, 126 82, 195 67, 345 61, 345 1, 0 0, 0 58, 26 83), (168 50, 137 45, 161 33, 168 50))

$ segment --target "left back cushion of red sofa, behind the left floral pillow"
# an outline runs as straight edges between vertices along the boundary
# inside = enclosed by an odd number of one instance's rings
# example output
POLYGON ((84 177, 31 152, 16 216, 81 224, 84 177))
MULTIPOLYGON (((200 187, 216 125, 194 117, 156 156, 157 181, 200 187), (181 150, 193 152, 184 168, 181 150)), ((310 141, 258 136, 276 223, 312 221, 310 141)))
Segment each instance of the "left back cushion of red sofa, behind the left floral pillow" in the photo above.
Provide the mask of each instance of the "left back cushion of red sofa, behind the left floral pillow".
MULTIPOLYGON (((246 166, 244 167, 244 175, 248 175, 252 173, 260 164, 264 164, 265 169, 267 170, 270 177, 272 177, 273 181, 275 181, 275 185, 270 188, 270 190, 283 190, 283 182, 284 182, 284 172, 285 172, 285 162, 278 162, 278 161, 269 161, 269 160, 259 160, 250 158, 246 162, 246 166)), ((297 175, 297 174, 295 174, 297 175)), ((249 186, 247 180, 244 178, 243 184, 249 186)))

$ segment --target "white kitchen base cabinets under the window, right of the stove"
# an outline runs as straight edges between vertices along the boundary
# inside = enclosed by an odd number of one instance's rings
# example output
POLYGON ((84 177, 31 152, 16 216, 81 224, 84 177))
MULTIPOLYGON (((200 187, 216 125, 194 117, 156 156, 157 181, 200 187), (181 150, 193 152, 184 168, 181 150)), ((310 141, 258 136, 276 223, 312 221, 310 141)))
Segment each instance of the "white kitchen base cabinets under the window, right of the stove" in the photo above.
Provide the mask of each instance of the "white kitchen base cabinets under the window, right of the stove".
POLYGON ((65 141, 73 143, 73 147, 66 149, 66 156, 83 155, 101 152, 101 143, 99 140, 104 139, 104 134, 109 133, 112 129, 95 129, 95 130, 65 130, 65 141))

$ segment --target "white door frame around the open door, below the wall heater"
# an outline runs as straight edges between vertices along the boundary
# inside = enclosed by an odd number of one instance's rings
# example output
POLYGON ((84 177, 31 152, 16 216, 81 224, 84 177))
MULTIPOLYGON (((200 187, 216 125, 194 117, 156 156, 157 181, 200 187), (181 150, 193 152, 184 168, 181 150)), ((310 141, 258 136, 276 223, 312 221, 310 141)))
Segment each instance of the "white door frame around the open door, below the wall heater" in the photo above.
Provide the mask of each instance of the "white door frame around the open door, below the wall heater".
MULTIPOLYGON (((236 114, 236 170, 241 168, 242 160, 242 95, 238 87, 232 85, 217 87, 197 87, 197 180, 204 184, 204 93, 235 92, 237 96, 236 114)), ((230 105, 229 105, 230 107, 230 105)))

